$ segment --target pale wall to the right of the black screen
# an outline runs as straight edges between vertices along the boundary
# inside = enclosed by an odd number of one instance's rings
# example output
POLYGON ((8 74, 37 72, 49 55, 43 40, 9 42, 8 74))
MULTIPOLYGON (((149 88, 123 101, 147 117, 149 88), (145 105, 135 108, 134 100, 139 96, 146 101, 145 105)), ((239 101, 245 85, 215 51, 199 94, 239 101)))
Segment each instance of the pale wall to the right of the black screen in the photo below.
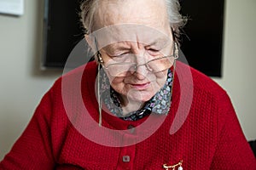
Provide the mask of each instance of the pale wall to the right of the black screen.
POLYGON ((256 1, 226 0, 223 77, 248 140, 256 139, 256 1))

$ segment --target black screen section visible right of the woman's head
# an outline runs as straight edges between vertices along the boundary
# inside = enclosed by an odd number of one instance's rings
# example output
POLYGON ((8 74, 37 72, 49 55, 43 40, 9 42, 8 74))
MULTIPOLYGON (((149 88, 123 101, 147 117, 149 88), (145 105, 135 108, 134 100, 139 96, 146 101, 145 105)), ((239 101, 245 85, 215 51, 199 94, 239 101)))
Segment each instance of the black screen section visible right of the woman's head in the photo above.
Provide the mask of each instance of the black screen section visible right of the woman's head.
POLYGON ((189 65, 221 77, 224 0, 183 0, 181 5, 181 13, 189 18, 181 42, 189 65))

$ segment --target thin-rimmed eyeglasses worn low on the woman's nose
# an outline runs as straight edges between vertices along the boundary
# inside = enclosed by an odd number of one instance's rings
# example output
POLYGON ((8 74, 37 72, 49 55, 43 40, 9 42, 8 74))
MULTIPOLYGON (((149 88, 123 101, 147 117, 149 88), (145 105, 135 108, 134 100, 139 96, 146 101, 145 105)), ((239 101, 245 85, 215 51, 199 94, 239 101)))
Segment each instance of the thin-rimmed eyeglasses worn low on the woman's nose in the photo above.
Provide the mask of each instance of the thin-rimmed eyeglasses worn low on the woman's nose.
POLYGON ((142 65, 137 65, 137 63, 134 62, 119 62, 102 66, 108 70, 109 75, 112 77, 126 77, 129 74, 133 74, 135 71, 137 71, 138 67, 143 65, 145 65, 148 71, 153 73, 166 71, 172 66, 174 59, 176 59, 175 56, 170 55, 150 59, 148 62, 142 65))

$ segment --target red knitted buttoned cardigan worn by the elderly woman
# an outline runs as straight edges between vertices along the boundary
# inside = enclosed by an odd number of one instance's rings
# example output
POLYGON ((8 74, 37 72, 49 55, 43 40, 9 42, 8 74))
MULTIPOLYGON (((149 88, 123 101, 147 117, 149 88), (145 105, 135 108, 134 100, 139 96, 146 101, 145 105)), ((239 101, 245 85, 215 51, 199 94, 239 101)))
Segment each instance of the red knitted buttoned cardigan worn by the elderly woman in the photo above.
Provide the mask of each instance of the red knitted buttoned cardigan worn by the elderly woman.
POLYGON ((103 127, 95 126, 95 79, 95 62, 58 79, 44 95, 20 139, 0 162, 0 169, 164 169, 164 164, 171 166, 181 160, 184 170, 256 169, 255 157, 228 95, 200 72, 177 62, 168 116, 152 114, 125 122, 102 111, 103 127), (193 97, 192 103, 189 96, 193 97), (131 128, 143 125, 149 117, 164 122, 157 129, 154 122, 140 132, 131 128), (152 135, 138 141, 154 128, 152 135), (119 131, 105 133, 101 129, 119 131), (118 147, 121 143, 127 146, 118 147))

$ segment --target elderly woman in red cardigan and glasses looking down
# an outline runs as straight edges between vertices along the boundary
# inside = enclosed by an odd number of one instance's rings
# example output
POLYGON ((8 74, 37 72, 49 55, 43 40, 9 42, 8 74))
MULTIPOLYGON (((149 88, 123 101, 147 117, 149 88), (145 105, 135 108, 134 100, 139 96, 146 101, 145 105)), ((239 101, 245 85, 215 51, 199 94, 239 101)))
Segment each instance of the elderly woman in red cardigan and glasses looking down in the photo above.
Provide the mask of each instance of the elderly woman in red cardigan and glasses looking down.
POLYGON ((230 99, 176 62, 177 0, 85 0, 96 61, 58 79, 0 169, 256 169, 230 99))

